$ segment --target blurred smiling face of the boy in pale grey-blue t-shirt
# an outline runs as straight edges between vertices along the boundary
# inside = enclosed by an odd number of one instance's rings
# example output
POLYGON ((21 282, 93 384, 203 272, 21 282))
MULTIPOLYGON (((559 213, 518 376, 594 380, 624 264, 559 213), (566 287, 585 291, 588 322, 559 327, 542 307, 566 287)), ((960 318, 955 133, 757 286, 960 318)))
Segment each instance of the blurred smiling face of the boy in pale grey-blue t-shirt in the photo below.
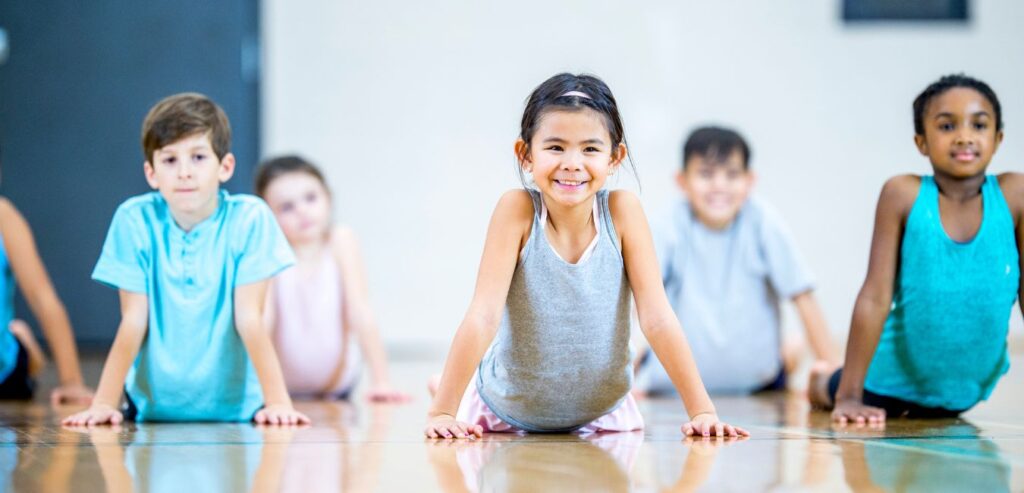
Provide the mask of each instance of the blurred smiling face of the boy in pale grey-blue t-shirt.
POLYGON ((693 214, 713 230, 732 223, 746 202, 754 180, 754 173, 746 169, 739 150, 732 151, 725 159, 692 156, 677 176, 693 214))

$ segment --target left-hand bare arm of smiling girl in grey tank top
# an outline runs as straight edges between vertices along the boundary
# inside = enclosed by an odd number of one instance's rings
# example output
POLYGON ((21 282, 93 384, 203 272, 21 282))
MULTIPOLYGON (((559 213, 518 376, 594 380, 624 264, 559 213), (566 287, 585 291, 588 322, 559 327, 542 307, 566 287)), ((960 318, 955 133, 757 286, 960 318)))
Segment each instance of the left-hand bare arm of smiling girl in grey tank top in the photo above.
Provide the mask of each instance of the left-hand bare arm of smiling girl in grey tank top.
POLYGON ((490 217, 473 300, 452 341, 424 434, 436 438, 482 435, 479 426, 456 421, 455 414, 473 371, 495 338, 519 249, 529 234, 534 204, 525 191, 502 196, 490 217))

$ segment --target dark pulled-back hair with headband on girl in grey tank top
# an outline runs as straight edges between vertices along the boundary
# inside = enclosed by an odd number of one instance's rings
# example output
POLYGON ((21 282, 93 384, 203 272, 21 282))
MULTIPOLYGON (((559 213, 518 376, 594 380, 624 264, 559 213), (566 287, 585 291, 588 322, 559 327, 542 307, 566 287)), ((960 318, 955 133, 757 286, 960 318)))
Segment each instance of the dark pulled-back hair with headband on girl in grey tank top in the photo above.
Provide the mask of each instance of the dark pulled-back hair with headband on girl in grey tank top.
MULTIPOLYGON (((626 131, 623 129, 623 119, 618 115, 618 104, 615 102, 615 96, 611 95, 608 85, 592 75, 562 73, 542 82, 526 99, 526 109, 522 112, 522 122, 519 127, 519 138, 526 142, 526 152, 529 152, 529 141, 541 124, 541 118, 546 114, 553 111, 577 112, 584 109, 591 109, 604 117, 604 126, 611 136, 612 150, 620 143, 626 143, 626 131), (581 92, 589 97, 566 94, 568 92, 581 92)), ((629 145, 626 147, 628 150, 629 145)), ((633 169, 633 175, 637 176, 633 158, 627 154, 627 159, 630 168, 633 169)), ((516 169, 519 171, 519 179, 525 187, 526 177, 523 175, 522 167, 516 166, 516 169)), ((639 182, 639 177, 637 178, 639 182)))

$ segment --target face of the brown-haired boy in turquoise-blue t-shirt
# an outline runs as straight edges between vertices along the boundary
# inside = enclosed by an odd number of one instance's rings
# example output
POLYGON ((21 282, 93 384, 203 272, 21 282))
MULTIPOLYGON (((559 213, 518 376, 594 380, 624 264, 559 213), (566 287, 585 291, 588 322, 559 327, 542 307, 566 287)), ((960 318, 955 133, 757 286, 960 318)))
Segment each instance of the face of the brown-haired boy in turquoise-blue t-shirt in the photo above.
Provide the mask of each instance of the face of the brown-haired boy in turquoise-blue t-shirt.
POLYGON ((145 180, 167 201, 174 220, 189 231, 217 210, 220 183, 234 173, 234 156, 217 159, 208 132, 181 137, 154 151, 145 180))

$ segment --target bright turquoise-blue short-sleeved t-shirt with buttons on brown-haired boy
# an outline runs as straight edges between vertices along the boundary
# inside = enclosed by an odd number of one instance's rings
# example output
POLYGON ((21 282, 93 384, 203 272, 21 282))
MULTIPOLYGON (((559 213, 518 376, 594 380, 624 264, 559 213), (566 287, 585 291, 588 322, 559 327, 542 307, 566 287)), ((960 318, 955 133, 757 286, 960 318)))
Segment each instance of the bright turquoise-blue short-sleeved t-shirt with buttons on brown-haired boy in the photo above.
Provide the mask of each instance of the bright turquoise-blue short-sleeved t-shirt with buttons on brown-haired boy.
POLYGON ((262 200, 221 191, 218 202, 186 233, 159 193, 128 199, 92 272, 148 296, 148 330, 125 383, 138 420, 243 421, 263 404, 234 328, 234 288, 295 256, 262 200))

